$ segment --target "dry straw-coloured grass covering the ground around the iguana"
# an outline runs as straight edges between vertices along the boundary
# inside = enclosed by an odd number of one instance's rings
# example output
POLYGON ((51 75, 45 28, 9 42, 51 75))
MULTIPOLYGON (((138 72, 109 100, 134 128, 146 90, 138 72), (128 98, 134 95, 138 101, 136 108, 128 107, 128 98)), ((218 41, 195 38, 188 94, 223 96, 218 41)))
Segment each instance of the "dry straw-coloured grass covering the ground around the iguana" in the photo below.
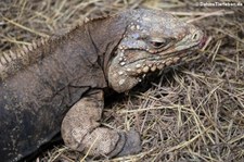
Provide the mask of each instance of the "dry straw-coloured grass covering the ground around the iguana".
MULTIPOLYGON (((9 0, 0 2, 1 51, 65 33, 88 15, 128 8, 163 9, 206 30, 202 51, 160 72, 140 94, 131 91, 104 112, 104 125, 141 133, 143 150, 111 161, 244 161, 243 7, 204 8, 175 0, 9 0), (113 108, 113 109, 110 109, 113 108)), ((244 5, 244 4, 243 4, 244 5)), ((39 161, 92 161, 60 145, 39 161)))

